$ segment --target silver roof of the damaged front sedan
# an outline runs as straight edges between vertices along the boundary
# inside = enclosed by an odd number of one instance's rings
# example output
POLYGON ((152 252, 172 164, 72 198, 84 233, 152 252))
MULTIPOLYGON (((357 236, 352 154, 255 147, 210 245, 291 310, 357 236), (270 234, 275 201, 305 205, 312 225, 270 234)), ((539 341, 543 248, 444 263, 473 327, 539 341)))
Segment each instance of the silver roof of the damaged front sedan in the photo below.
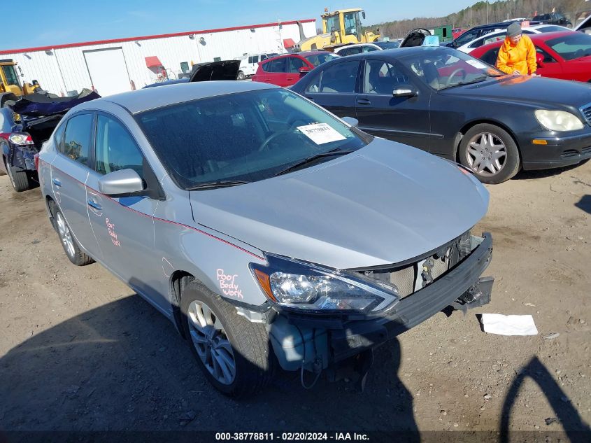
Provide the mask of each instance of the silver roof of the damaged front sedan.
POLYGON ((135 114, 142 111, 148 111, 148 109, 182 103, 183 101, 234 94, 236 92, 278 88, 278 86, 269 83, 230 80, 182 83, 162 87, 149 87, 147 89, 101 97, 100 99, 87 101, 84 104, 76 106, 76 110, 100 109, 101 104, 108 101, 122 106, 122 108, 127 109, 129 113, 135 114))

